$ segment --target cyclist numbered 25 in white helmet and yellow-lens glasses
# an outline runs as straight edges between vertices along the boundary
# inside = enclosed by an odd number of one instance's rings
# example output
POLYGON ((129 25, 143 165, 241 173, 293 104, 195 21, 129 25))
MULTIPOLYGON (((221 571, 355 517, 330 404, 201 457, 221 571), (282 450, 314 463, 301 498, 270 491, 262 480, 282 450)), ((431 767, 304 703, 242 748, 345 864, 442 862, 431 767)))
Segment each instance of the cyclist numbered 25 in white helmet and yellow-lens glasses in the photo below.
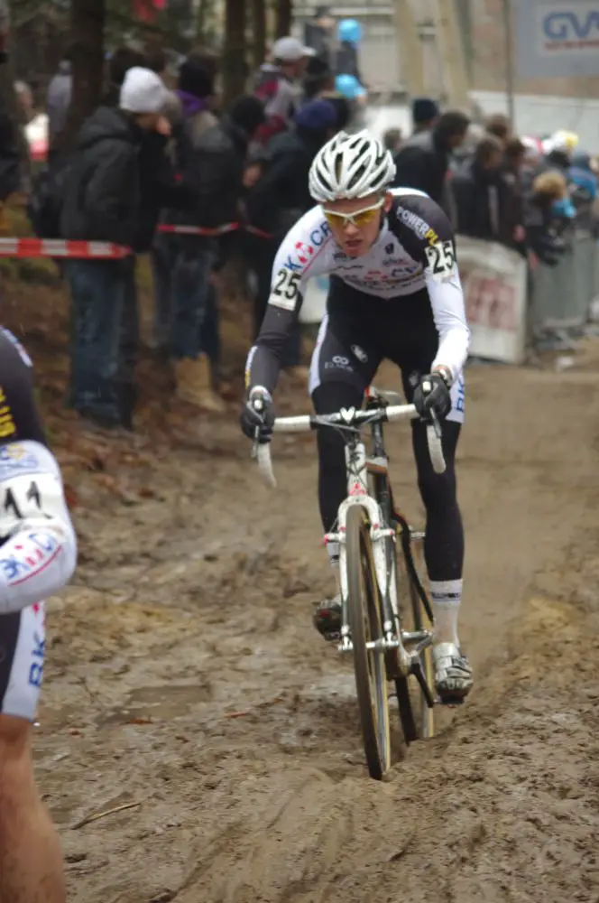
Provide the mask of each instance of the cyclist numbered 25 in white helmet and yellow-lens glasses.
MULTIPOLYGON (((405 395, 421 416, 412 421, 412 444, 427 512, 424 551, 435 615, 435 682, 440 700, 455 702, 473 684, 457 635, 464 531, 455 473, 469 331, 447 217, 420 191, 389 191, 394 174, 392 155, 365 131, 339 133, 315 157, 309 190, 318 207, 290 229, 276 256, 262 329, 247 360, 241 423, 248 437, 257 432, 260 442, 270 442, 272 390, 302 292, 309 278, 330 275, 310 395, 317 414, 359 407, 383 358, 401 368, 405 395), (431 412, 445 421, 443 474, 435 473, 429 458, 431 412)), ((336 431, 318 431, 318 461, 320 515, 328 533, 346 497, 344 442, 336 431)), ((327 548, 335 565, 338 547, 327 548)), ((338 593, 320 604, 315 622, 325 638, 338 637, 338 593)))

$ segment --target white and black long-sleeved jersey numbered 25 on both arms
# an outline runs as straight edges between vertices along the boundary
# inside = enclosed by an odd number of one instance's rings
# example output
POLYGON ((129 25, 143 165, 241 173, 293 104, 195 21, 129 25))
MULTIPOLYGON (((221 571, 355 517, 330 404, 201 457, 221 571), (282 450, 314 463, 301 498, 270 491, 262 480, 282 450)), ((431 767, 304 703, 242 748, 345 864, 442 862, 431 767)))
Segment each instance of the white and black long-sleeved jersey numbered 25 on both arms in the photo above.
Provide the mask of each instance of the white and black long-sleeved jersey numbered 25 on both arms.
MULTIPOLYGON (((454 379, 459 377, 468 353, 469 330, 453 229, 438 204, 422 191, 394 189, 392 195, 379 236, 364 256, 346 256, 319 206, 290 229, 274 261, 262 329, 248 357, 248 388, 264 386, 272 391, 276 385, 281 350, 298 317, 305 286, 318 275, 331 276, 337 285, 329 295, 328 314, 343 319, 344 304, 350 313, 353 299, 359 296, 363 303, 359 311, 355 305, 352 316, 361 317, 364 325, 369 321, 369 327, 381 302, 397 308, 397 322, 402 320, 402 304, 407 318, 413 320, 413 305, 405 302, 418 295, 425 309, 414 328, 430 323, 438 338, 431 365, 444 364, 454 379), (343 285, 348 289, 345 295, 343 285), (373 298, 372 307, 368 297, 373 298)), ((410 330, 408 319, 405 329, 410 330)))

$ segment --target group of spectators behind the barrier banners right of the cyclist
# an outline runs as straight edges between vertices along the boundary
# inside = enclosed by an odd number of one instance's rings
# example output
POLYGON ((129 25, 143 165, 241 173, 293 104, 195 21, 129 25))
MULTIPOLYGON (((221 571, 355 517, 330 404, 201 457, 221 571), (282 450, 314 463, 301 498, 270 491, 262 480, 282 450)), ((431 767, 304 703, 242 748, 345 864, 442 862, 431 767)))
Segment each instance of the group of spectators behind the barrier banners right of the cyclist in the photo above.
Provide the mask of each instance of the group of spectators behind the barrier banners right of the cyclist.
POLYGON ((407 141, 386 135, 395 150, 396 184, 426 191, 456 233, 551 266, 575 224, 597 231, 599 162, 578 151, 575 134, 520 137, 506 116, 479 126, 462 112, 441 112, 430 98, 417 98, 412 115, 407 141))

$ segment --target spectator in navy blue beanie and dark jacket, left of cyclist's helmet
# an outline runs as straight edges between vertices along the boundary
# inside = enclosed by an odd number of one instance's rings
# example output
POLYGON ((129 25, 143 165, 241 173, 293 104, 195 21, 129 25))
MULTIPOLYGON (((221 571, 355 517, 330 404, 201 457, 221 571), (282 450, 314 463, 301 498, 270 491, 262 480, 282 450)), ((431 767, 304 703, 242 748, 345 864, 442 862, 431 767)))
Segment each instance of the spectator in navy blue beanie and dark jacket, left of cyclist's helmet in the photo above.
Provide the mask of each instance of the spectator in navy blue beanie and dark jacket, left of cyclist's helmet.
MULTIPOLYGON (((267 147, 268 163, 262 179, 247 199, 248 218, 271 238, 250 237, 249 269, 254 274, 253 338, 258 335, 270 292, 272 264, 281 239, 314 206, 308 175, 314 157, 337 131, 336 109, 328 100, 311 100, 294 117, 294 128, 276 135, 267 147)), ((283 366, 301 375, 299 327, 291 335, 283 366)))

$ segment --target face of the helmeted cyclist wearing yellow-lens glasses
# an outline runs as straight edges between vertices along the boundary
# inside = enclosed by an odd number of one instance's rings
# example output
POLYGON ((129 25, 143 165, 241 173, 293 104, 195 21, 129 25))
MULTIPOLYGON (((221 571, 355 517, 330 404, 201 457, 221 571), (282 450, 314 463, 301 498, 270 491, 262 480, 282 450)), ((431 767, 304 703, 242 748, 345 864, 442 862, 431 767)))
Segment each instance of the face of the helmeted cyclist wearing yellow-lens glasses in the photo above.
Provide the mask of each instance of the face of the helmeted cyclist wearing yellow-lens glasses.
POLYGON ((347 256, 360 257, 373 247, 382 215, 390 209, 391 202, 391 194, 377 193, 355 200, 330 200, 322 205, 333 237, 347 256))

